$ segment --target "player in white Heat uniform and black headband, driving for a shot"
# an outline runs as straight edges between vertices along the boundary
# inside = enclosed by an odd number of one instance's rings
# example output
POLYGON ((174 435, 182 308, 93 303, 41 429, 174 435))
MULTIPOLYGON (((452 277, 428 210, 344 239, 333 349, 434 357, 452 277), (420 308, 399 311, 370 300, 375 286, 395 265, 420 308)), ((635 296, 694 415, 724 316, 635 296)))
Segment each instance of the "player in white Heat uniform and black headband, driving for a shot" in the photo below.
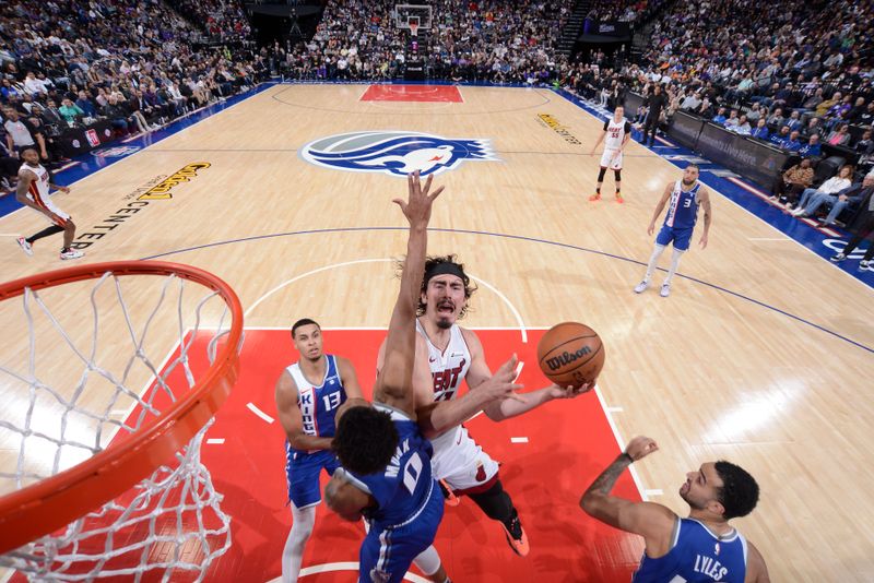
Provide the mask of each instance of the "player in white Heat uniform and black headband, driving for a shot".
POLYGON ((476 444, 460 420, 482 408, 492 420, 500 421, 554 398, 577 396, 589 385, 576 391, 552 385, 517 398, 484 401, 479 395, 481 391, 492 392, 495 382, 503 382, 507 374, 515 376, 516 356, 492 376, 480 338, 456 323, 466 311, 473 290, 454 255, 429 258, 425 263, 413 374, 416 407, 434 407, 426 436, 434 445, 434 477, 447 490, 449 503, 458 503, 456 495, 468 495, 488 517, 501 524, 512 550, 525 556, 528 536, 512 500, 504 491, 498 463, 476 444), (460 395, 463 380, 469 392, 460 395))

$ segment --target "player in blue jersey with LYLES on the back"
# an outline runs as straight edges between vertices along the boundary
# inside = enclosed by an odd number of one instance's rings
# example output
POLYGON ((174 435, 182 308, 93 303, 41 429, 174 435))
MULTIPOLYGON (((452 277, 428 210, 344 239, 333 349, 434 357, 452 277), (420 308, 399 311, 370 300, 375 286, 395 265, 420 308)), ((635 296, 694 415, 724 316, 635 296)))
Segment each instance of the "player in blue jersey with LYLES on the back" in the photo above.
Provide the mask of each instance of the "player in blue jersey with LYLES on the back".
POLYGON ((680 488, 690 508, 686 519, 662 504, 610 496, 625 468, 658 449, 649 438, 634 438, 580 500, 601 522, 643 537, 646 549, 631 583, 769 582, 758 549, 729 524, 758 502, 758 484, 742 467, 720 461, 686 474, 680 488))

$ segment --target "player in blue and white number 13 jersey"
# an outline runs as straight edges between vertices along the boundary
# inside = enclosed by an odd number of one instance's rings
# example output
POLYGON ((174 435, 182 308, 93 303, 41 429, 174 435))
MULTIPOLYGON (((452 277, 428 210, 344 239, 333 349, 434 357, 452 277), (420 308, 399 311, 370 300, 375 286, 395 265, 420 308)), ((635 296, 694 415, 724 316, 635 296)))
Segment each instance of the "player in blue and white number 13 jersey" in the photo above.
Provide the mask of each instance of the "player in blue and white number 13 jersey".
POLYGON ((295 322, 292 341, 300 358, 276 381, 280 423, 285 429, 285 473, 292 503, 292 530, 282 552, 282 581, 295 582, 300 573, 304 547, 312 534, 316 507, 321 501, 319 474, 333 475, 340 463, 331 451, 334 416, 346 398, 361 398, 362 390, 352 364, 322 353, 319 324, 295 322))

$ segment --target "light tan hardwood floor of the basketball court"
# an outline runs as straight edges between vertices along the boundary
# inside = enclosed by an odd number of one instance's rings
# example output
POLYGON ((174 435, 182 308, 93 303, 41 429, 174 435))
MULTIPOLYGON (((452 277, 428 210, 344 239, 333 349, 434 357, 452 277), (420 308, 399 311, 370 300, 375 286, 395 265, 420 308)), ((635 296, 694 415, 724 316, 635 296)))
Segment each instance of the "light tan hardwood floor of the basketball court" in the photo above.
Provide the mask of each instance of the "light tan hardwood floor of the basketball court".
MULTIPOLYGON (((487 139, 499 160, 462 162, 435 179, 446 192, 434 210, 429 251, 458 253, 481 281, 468 325, 590 324, 605 342, 600 386, 606 404, 621 408, 614 419, 623 439, 642 433, 660 444, 637 467, 651 500, 685 513, 676 495, 685 472, 729 459, 761 485, 759 508, 736 523, 775 581, 870 579, 869 287, 717 193, 710 245, 697 247, 699 226, 680 267, 695 279, 678 277, 663 299, 661 273, 654 289, 637 296, 631 287, 652 249, 646 227, 665 183, 680 177, 676 167, 633 143, 626 203, 611 201, 611 177, 604 201, 589 203, 600 153, 588 153, 602 122, 557 94, 460 87, 461 103, 362 102, 366 90, 277 85, 55 200, 74 217, 79 240, 93 242, 86 261, 162 255, 208 269, 250 309, 247 325, 306 316, 324 326, 385 326, 398 281, 390 263, 363 261, 403 252, 403 218, 390 201, 404 195, 405 183, 317 167, 298 150, 359 131, 487 139), (172 198, 153 194, 127 212, 130 218, 107 223, 196 163, 209 167, 175 186, 172 198), (280 284, 323 267, 255 306, 280 284)), ((40 228, 25 211, 0 219, 3 234, 40 228)), ((62 266, 56 239, 38 241, 31 259, 5 239, 3 277, 62 266)), ((134 298, 131 310, 146 310, 147 299, 134 298)), ((4 330, 13 330, 2 310, 4 330)), ((167 350, 172 334, 156 335, 167 350)), ((4 344, 0 361, 13 353, 4 344)), ((0 406, 15 402, 13 389, 2 391, 0 406)), ((593 477, 579 475, 578 491, 593 477)))

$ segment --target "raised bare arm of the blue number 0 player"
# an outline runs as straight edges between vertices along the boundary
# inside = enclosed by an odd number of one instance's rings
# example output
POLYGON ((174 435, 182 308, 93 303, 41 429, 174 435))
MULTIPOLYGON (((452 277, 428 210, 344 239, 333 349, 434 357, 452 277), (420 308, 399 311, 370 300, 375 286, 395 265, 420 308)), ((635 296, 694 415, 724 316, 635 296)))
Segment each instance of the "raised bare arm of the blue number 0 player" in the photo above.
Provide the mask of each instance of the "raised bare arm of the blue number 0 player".
POLYGON ((374 386, 374 401, 403 411, 414 418, 415 398, 412 384, 416 346, 416 299, 425 272, 427 226, 432 204, 444 190, 440 187, 430 192, 433 178, 429 176, 423 187, 416 170, 408 177, 408 200, 392 201, 401 207, 410 223, 410 237, 406 241, 406 258, 401 273, 401 290, 386 338, 385 362, 374 386))

